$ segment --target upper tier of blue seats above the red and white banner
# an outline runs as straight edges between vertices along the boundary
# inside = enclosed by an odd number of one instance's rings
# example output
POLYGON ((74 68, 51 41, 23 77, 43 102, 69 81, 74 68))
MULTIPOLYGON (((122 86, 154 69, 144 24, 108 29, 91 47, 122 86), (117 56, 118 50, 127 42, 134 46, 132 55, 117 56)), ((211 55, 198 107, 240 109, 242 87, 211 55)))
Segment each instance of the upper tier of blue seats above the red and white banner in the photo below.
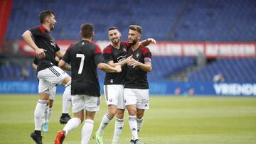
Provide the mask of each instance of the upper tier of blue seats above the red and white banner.
POLYGON ((256 1, 212 0, 14 0, 6 38, 21 39, 39 25, 38 13, 55 11, 56 40, 78 40, 81 23, 95 25, 95 39, 107 40, 107 29, 117 26, 127 39, 128 26, 143 27, 143 38, 182 41, 255 41, 256 1))

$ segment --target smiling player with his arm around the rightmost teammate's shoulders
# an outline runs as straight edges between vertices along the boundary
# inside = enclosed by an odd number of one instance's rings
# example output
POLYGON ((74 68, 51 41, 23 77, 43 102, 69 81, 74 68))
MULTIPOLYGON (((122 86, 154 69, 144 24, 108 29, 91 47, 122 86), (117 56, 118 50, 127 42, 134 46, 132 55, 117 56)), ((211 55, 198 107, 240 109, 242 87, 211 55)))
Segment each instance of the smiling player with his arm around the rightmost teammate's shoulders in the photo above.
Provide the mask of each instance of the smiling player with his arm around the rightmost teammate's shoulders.
MULTIPOLYGON (((108 113, 106 113, 100 123, 100 127, 95 133, 96 143, 102 144, 102 133, 107 124, 110 123, 114 115, 117 113, 114 136, 112 143, 118 143, 119 135, 122 133, 124 126, 124 79, 126 69, 123 67, 129 60, 127 58, 127 48, 130 47, 129 43, 121 41, 121 33, 117 27, 111 27, 108 30, 108 38, 111 44, 103 50, 103 56, 108 65, 114 67, 116 65, 122 66, 122 72, 120 73, 106 73, 104 81, 105 100, 108 106, 108 113)), ((149 45, 149 43, 156 43, 156 40, 148 38, 143 40, 142 45, 149 45)))

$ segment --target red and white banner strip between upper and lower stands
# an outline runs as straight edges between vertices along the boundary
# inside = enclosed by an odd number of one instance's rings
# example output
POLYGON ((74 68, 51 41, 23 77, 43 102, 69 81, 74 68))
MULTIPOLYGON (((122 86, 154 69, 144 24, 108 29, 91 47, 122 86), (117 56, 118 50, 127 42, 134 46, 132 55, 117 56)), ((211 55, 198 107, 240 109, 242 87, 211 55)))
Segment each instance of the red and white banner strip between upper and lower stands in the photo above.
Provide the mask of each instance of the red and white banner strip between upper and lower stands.
MULTIPOLYGON (((24 41, 18 40, 19 51, 23 55, 35 55, 35 52, 24 41)), ((61 50, 75 43, 73 40, 57 41, 61 50)), ((95 41, 100 48, 110 45, 110 41, 95 41)), ((228 42, 171 42, 158 41, 148 46, 153 56, 198 56, 206 55, 208 58, 216 57, 256 57, 256 43, 228 43, 228 42)))

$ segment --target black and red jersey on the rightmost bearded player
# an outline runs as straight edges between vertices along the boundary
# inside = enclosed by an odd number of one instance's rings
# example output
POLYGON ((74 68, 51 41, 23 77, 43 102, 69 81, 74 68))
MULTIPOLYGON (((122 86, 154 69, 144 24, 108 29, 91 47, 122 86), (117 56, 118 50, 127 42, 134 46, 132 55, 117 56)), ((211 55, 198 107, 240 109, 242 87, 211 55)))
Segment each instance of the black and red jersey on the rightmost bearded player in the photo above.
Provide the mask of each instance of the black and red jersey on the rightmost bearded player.
MULTIPOLYGON (((132 55, 134 60, 144 63, 145 59, 151 60, 151 52, 149 48, 139 45, 137 50, 127 49, 127 57, 132 55)), ((139 68, 127 65, 127 74, 125 76, 124 88, 129 89, 149 89, 147 80, 147 72, 139 68)))

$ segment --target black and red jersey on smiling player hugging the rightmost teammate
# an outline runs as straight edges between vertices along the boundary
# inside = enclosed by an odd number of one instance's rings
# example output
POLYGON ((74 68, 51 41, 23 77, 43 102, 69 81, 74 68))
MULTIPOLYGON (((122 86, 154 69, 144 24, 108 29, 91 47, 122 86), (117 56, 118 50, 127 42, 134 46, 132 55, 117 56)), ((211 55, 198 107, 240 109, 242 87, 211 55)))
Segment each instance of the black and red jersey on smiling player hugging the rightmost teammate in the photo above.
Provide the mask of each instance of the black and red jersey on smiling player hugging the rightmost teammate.
MULTIPOLYGON (((112 45, 108 45, 103 50, 103 56, 106 62, 113 60, 114 63, 121 62, 127 58, 127 48, 130 45, 127 42, 121 42, 120 48, 114 48, 112 45)), ((119 73, 107 73, 105 76, 104 84, 124 84, 126 74, 126 67, 122 67, 122 72, 119 73)))

